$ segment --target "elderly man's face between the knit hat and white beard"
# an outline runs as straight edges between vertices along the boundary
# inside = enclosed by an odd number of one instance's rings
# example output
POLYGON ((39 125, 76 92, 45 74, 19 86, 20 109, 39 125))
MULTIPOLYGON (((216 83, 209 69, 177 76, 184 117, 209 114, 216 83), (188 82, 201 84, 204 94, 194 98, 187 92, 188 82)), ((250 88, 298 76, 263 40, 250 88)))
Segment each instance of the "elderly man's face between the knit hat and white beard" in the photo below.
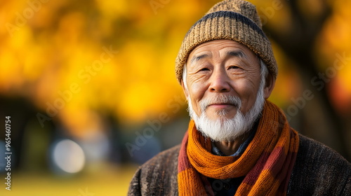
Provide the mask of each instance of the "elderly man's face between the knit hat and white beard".
MULTIPOLYGON (((219 95, 239 98, 244 115, 255 104, 261 79, 260 64, 255 53, 245 45, 230 40, 202 43, 192 50, 186 66, 187 87, 183 88, 197 116, 201 116, 201 100, 216 100, 219 95)), ((203 107, 210 120, 234 118, 239 109, 235 104, 220 101, 203 107)))

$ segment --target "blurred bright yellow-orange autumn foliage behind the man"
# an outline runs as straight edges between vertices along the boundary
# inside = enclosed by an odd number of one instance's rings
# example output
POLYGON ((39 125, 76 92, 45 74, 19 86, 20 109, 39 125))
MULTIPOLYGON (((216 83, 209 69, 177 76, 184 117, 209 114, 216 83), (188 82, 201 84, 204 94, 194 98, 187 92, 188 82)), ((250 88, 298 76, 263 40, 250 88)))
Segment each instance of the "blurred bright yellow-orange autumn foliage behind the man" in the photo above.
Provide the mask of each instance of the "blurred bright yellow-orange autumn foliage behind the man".
MULTIPOLYGON (((180 43, 216 2, 48 1, 33 7, 28 1, 2 0, 0 21, 5 25, 0 28, 0 93, 21 94, 46 111, 47 103, 62 98, 59 91, 77 84, 79 92, 72 92, 72 99, 54 117, 72 132, 84 130, 88 120, 94 120, 82 113, 99 109, 112 110, 121 122, 142 123, 169 110, 167 102, 183 94, 174 73, 180 43), (118 52, 113 57, 106 55, 110 59, 101 69, 87 68, 109 48, 118 52)), ((253 1, 270 25, 287 30, 290 14, 286 3, 279 2, 253 1), (274 15, 269 13, 272 9, 274 15)), ((329 61, 335 52, 351 54, 350 1, 335 1, 333 6, 335 14, 317 47, 322 55, 329 55, 329 61)), ((313 12, 318 13, 319 8, 313 12)), ((291 64, 279 54, 279 48, 274 50, 282 70, 278 80, 286 86, 298 76, 286 69, 291 64)), ((349 93, 350 74, 350 63, 338 73, 349 93)), ((296 87, 294 92, 298 90, 296 87)), ((272 99, 284 104, 291 96, 291 88, 277 85, 272 99)))

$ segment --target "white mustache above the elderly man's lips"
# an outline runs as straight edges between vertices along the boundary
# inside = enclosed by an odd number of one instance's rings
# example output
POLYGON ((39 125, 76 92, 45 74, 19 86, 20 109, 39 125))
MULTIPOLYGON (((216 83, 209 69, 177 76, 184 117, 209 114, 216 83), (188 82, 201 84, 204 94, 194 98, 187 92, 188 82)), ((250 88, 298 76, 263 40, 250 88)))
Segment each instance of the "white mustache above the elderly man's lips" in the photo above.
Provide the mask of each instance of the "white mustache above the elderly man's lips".
POLYGON ((232 104, 236 106, 237 109, 241 109, 241 100, 239 97, 224 94, 219 94, 218 96, 212 98, 202 99, 199 104, 202 112, 204 112, 206 108, 212 104, 232 104))

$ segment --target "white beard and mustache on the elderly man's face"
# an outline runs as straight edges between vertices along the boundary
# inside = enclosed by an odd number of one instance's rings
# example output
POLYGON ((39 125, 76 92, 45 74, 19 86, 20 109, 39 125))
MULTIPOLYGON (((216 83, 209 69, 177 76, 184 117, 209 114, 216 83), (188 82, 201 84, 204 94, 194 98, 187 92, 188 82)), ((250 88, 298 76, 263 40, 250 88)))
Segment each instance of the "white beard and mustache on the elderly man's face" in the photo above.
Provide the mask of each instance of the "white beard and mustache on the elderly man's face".
POLYGON ((242 134, 249 132, 253 127, 256 120, 259 118, 260 113, 263 110, 265 104, 265 98, 263 97, 263 87, 265 85, 264 79, 261 80, 260 87, 258 89, 255 104, 252 108, 244 115, 241 113, 241 100, 239 97, 230 95, 220 94, 218 97, 213 99, 203 99, 199 102, 201 108, 201 116, 197 116, 192 109, 192 102, 187 97, 188 111, 190 117, 194 120, 197 130, 199 130, 204 137, 208 137, 213 141, 234 141, 242 134), (205 109, 211 103, 229 103, 237 107, 237 113, 233 118, 226 118, 227 111, 225 109, 218 112, 220 118, 211 120, 206 115, 205 109))

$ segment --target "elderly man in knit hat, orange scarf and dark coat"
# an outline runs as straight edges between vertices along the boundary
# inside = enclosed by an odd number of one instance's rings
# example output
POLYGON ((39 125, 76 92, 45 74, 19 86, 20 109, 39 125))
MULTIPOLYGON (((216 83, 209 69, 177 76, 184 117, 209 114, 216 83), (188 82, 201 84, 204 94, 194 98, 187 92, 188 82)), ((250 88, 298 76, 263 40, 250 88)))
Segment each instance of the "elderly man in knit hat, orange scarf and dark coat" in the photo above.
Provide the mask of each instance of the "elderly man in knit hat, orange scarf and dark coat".
POLYGON ((251 3, 225 0, 187 32, 176 75, 192 120, 128 195, 351 195, 350 163, 267 101, 278 71, 261 26, 251 3))

